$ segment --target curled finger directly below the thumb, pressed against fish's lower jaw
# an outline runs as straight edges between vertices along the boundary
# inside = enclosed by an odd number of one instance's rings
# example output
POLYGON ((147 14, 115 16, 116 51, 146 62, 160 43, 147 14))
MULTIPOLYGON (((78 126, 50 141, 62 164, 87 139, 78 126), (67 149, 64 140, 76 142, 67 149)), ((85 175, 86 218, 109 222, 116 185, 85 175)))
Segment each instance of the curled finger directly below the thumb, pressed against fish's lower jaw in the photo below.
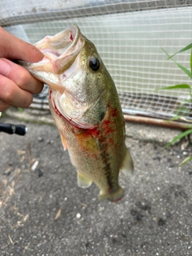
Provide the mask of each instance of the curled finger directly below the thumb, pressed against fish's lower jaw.
POLYGON ((22 90, 28 90, 32 94, 39 94, 42 91, 42 82, 32 77, 22 66, 10 62, 6 58, 0 58, 0 74, 13 80, 22 90))

